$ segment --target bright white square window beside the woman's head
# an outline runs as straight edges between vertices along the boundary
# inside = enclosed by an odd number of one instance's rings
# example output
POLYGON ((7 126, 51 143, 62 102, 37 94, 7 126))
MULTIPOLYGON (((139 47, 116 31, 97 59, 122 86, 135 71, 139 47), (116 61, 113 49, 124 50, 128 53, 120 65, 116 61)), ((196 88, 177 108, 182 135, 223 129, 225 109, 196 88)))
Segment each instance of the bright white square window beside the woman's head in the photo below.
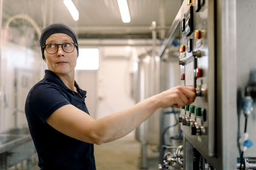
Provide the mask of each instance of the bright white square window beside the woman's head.
POLYGON ((79 48, 76 70, 97 70, 99 69, 99 49, 79 48))

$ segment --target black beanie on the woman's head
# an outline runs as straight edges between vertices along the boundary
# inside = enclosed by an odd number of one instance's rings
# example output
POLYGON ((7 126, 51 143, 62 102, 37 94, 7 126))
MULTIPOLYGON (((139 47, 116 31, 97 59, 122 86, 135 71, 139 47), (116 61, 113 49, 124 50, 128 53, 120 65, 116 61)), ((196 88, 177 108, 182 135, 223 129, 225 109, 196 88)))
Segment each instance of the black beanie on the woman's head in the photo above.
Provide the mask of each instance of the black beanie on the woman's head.
POLYGON ((41 46, 41 51, 42 51, 42 57, 44 57, 44 45, 45 41, 49 36, 55 33, 64 33, 70 36, 74 43, 76 43, 76 48, 77 48, 77 56, 78 56, 78 43, 77 43, 77 36, 76 33, 67 25, 64 24, 51 24, 45 27, 42 31, 41 37, 40 37, 40 46, 41 46))

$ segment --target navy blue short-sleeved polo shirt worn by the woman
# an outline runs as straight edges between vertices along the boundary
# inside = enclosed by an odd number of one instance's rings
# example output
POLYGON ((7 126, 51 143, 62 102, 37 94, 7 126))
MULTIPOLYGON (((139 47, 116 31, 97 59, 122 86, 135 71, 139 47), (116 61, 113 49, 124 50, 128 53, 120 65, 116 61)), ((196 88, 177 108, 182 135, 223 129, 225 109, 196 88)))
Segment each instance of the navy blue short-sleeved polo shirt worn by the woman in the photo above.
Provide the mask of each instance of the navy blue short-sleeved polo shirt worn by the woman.
POLYGON ((86 91, 76 81, 75 87, 77 92, 68 89, 55 73, 45 70, 45 78, 29 91, 25 112, 41 169, 96 169, 93 144, 70 138, 45 122, 66 104, 88 113, 84 103, 86 91))

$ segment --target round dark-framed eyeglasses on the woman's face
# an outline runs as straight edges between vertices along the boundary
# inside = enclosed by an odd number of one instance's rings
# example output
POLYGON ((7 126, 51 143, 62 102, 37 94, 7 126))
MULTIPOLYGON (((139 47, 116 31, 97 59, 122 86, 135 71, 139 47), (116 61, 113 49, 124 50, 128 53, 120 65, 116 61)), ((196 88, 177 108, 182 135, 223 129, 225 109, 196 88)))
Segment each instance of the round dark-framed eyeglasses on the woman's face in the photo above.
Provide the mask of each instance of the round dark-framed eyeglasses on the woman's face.
POLYGON ((74 52, 75 47, 77 46, 76 43, 63 43, 63 44, 56 44, 56 43, 49 43, 44 45, 44 49, 47 53, 53 54, 58 52, 58 47, 61 45, 61 48, 66 53, 74 52))

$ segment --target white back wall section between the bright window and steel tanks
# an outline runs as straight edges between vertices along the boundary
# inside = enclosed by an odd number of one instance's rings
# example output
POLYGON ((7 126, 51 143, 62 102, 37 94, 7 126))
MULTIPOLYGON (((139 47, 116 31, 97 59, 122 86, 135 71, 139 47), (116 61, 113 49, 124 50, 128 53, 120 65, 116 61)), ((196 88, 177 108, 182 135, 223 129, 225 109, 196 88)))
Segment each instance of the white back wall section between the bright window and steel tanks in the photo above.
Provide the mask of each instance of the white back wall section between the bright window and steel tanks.
POLYGON ((97 76, 97 118, 123 110, 134 104, 131 99, 131 49, 101 47, 97 76))

